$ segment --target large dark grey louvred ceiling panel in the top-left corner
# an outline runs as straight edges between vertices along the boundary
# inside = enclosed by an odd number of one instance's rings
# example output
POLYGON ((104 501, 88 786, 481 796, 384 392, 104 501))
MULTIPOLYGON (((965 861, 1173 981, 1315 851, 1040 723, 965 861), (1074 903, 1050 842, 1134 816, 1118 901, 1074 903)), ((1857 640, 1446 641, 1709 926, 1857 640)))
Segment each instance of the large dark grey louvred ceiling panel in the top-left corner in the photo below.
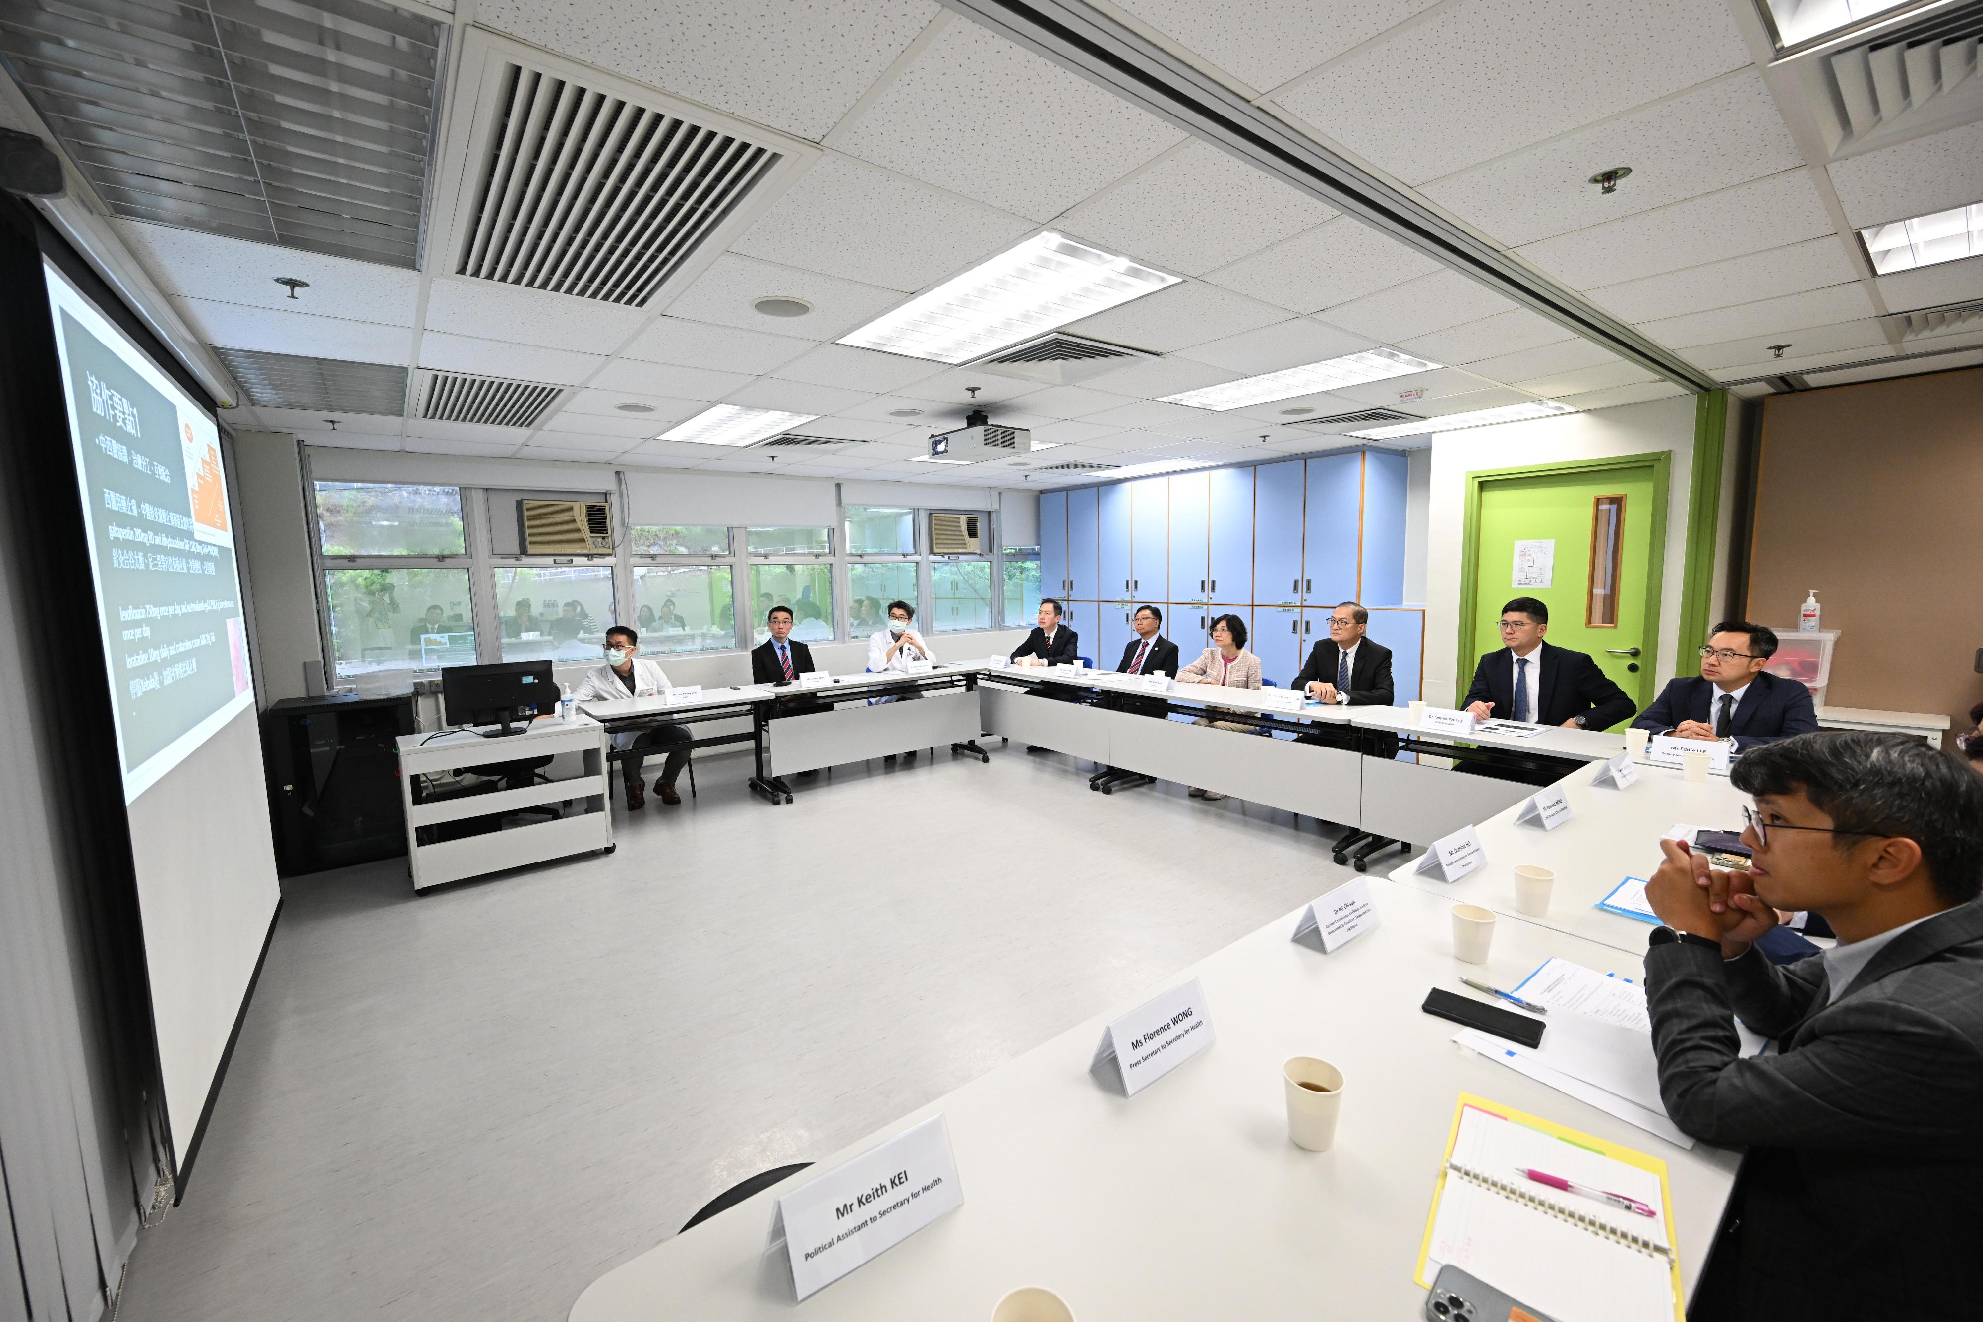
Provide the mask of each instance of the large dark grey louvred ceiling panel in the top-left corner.
POLYGON ((410 268, 444 28, 377 0, 20 0, 0 54, 111 214, 410 268))

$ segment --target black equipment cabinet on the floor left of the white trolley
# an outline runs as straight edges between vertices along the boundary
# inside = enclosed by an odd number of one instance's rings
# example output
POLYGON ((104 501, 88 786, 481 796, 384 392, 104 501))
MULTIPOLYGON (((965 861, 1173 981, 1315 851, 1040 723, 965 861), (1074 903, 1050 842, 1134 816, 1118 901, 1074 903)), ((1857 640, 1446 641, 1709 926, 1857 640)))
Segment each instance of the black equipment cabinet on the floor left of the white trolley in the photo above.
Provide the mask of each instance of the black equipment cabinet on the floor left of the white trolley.
POLYGON ((262 765, 284 876, 407 852, 399 735, 412 698, 284 698, 262 712, 262 765))

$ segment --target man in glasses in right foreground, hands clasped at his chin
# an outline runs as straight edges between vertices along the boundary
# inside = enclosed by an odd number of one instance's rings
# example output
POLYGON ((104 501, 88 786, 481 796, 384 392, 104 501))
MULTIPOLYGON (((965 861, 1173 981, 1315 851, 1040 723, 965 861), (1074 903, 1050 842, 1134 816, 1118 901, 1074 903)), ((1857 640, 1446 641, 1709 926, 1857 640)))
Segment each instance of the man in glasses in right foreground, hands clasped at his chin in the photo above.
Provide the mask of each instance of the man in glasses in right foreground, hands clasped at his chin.
POLYGON ((1751 872, 1666 840, 1646 1007, 1666 1112, 1749 1146, 1690 1318, 1975 1314, 1983 1148, 1983 779, 1920 739, 1795 735, 1745 753, 1751 872), (1838 945, 1771 965, 1777 910, 1838 945), (1733 1019, 1777 1039, 1741 1056, 1733 1019))

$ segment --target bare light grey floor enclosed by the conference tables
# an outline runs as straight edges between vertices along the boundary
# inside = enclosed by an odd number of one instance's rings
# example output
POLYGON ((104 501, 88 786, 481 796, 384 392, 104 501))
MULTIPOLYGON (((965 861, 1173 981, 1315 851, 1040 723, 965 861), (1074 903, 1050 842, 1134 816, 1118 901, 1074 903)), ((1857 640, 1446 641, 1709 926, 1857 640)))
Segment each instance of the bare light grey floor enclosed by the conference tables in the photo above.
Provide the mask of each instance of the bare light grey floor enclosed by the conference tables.
MULTIPOLYGON (((1313 821, 993 759, 744 763, 619 852, 414 896, 297 878, 186 1199, 121 1322, 525 1318, 708 1197, 825 1156, 1295 910, 1313 821)), ((631 819, 631 821, 629 821, 631 819)))

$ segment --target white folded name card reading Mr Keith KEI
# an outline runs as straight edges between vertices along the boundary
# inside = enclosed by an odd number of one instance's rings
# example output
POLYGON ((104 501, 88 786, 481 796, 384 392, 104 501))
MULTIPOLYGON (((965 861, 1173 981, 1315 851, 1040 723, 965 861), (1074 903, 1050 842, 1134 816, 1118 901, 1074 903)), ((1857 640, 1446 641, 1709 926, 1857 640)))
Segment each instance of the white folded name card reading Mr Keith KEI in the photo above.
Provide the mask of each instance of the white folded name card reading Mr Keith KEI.
POLYGON ((767 1253, 805 1298, 962 1205, 950 1130, 932 1116, 777 1199, 767 1253))

